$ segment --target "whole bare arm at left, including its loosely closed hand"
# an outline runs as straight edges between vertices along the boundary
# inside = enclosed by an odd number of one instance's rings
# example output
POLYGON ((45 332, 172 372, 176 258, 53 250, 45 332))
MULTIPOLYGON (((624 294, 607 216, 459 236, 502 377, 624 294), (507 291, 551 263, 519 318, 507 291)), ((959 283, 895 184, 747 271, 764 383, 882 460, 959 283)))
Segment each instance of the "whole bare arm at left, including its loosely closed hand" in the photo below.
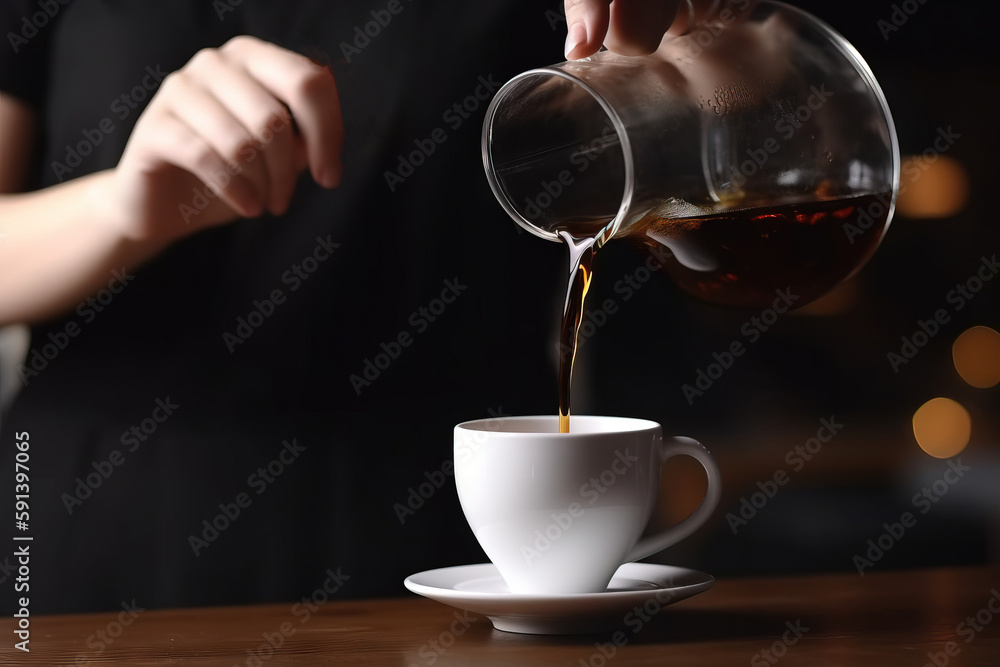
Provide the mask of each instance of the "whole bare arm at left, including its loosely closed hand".
MULTIPOLYGON (((247 36, 199 56, 163 80, 113 171, 0 194, 0 325, 72 311, 172 240, 283 214, 307 167, 325 187, 340 181, 344 128, 328 68, 247 36), (189 219, 181 205, 209 186, 189 219)), ((34 108, 0 93, 0 193, 24 187, 37 124, 34 108)))

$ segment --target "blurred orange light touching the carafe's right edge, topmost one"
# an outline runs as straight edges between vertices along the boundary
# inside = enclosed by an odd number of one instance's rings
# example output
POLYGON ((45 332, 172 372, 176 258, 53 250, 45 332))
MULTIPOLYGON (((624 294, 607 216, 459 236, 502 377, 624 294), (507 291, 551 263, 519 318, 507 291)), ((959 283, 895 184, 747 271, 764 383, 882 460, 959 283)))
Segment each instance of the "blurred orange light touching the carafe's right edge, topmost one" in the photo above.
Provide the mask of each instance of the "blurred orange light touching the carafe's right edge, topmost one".
POLYGON ((946 155, 903 158, 896 211, 907 218, 947 218, 969 199, 969 177, 957 160, 946 155))

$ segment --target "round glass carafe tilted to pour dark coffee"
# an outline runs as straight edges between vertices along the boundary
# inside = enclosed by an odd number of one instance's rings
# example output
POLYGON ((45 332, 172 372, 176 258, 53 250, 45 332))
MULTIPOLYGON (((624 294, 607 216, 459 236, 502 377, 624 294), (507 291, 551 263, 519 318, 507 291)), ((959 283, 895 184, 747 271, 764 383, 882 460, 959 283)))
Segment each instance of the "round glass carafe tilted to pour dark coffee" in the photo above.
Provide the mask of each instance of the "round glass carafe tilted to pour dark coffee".
POLYGON ((871 70, 778 2, 727 10, 650 56, 602 51, 519 74, 490 104, 482 148, 493 192, 528 231, 629 238, 683 289, 733 305, 787 291, 800 306, 853 275, 899 187, 871 70))

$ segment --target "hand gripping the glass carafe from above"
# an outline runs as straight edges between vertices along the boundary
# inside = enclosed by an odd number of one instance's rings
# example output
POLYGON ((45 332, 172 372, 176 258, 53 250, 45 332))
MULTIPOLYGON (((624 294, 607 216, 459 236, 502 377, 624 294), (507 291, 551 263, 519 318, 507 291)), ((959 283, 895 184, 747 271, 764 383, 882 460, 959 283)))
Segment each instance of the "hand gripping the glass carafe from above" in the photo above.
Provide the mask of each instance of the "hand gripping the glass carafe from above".
MULTIPOLYGON (((656 51, 666 34, 683 35, 729 5, 750 0, 565 0, 566 58, 597 53, 601 44, 623 56, 656 51)), ((738 9, 734 7, 735 11, 738 9)))

